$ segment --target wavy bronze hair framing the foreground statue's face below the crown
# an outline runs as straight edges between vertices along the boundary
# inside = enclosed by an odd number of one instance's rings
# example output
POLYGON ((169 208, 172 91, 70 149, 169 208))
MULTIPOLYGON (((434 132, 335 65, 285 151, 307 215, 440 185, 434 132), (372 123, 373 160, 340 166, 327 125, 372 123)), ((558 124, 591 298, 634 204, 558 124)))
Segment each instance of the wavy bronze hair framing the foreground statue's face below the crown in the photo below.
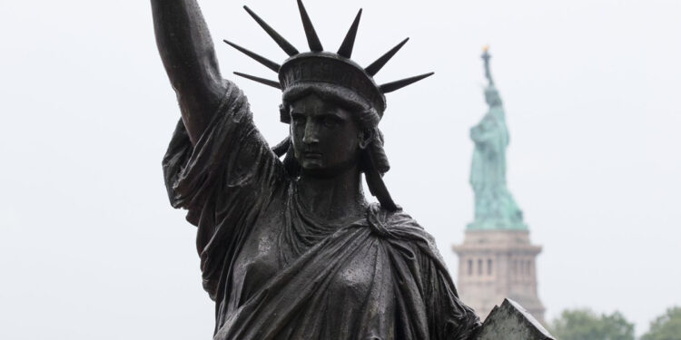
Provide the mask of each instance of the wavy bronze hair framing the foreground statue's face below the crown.
MULTIPOLYGON (((360 129, 370 134, 370 143, 364 151, 360 152, 360 171, 366 172, 370 167, 375 167, 381 174, 390 170, 388 156, 383 149, 383 133, 379 130, 379 112, 371 107, 370 103, 358 95, 341 86, 327 83, 309 83, 306 85, 294 85, 283 93, 280 107, 281 121, 291 122, 291 103, 310 94, 315 94, 323 101, 335 104, 352 112, 352 117, 360 126, 360 129), (369 154, 370 153, 370 154, 369 154), (373 162, 371 162, 371 159, 373 162)), ((293 177, 300 174, 301 166, 293 154, 293 145, 289 142, 286 157, 283 160, 286 170, 293 177)))

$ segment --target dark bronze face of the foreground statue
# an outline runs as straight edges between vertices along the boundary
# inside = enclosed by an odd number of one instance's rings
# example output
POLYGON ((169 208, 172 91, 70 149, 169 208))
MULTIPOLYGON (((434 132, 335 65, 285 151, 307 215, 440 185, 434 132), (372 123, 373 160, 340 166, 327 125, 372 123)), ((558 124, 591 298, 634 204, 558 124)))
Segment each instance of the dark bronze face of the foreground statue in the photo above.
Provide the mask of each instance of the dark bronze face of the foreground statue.
POLYGON ((352 114, 315 94, 291 103, 291 141, 303 170, 333 175, 357 165, 364 136, 352 114))

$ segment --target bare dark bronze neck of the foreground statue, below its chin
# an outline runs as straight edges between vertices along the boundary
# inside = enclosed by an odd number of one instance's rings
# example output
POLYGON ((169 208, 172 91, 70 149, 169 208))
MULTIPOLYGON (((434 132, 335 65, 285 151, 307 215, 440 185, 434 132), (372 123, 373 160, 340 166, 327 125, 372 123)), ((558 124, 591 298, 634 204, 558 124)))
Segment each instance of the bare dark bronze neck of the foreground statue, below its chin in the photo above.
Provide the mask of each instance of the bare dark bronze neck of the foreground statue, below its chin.
POLYGON ((364 216, 367 201, 361 189, 361 174, 352 167, 332 177, 303 171, 298 180, 298 199, 312 216, 331 223, 364 216))

